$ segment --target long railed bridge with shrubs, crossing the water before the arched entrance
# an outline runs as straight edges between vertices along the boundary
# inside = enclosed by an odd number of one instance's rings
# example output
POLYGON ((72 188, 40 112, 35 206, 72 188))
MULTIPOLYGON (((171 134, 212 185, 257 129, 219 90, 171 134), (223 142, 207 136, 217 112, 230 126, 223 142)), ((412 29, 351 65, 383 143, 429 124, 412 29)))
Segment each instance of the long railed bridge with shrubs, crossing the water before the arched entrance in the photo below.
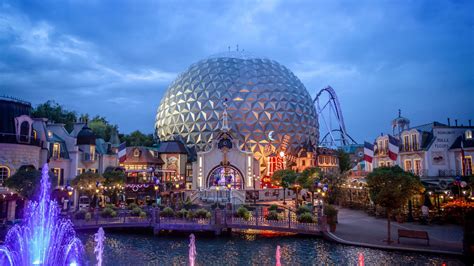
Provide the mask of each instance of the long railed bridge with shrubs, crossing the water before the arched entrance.
POLYGON ((216 209, 211 211, 210 218, 162 217, 158 208, 150 209, 147 217, 132 216, 128 211, 119 212, 117 217, 104 218, 94 213, 92 219, 75 219, 70 217, 76 230, 102 228, 150 228, 155 234, 162 230, 185 232, 214 232, 216 235, 232 229, 267 230, 282 233, 320 236, 326 231, 325 217, 319 217, 312 223, 297 220, 294 212, 285 210, 278 220, 267 219, 262 209, 251 211, 249 219, 236 217, 235 212, 216 209))

